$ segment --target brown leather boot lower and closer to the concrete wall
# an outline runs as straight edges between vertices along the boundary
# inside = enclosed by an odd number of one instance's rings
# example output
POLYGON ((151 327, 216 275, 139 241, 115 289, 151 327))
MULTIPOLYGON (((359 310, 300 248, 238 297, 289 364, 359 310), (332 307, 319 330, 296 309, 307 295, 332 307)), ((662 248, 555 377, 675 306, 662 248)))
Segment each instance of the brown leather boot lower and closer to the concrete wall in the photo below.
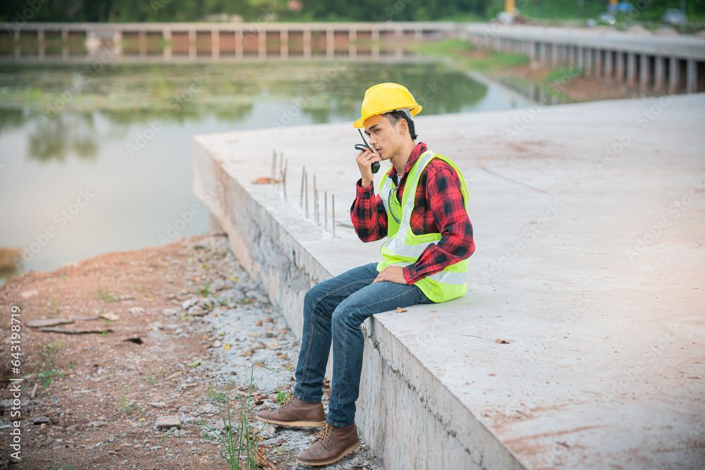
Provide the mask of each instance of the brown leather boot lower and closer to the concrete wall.
POLYGON ((355 424, 338 428, 326 423, 313 440, 313 445, 301 452, 296 462, 304 465, 328 465, 360 447, 355 424))

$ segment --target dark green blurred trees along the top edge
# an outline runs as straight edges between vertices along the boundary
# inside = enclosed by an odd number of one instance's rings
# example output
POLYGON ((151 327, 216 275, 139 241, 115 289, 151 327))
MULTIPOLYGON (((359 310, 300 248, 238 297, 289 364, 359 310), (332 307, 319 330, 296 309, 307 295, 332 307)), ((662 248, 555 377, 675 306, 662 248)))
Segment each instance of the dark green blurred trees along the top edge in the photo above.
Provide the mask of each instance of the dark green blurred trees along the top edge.
MULTIPOLYGON (((540 18, 594 18, 607 0, 515 0, 520 13, 540 18)), ((636 20, 658 20, 680 0, 632 1, 636 20)), ((221 15, 244 21, 488 20, 504 0, 3 0, 0 21, 171 22, 221 15)), ((688 0, 689 16, 705 16, 705 0, 688 0)))

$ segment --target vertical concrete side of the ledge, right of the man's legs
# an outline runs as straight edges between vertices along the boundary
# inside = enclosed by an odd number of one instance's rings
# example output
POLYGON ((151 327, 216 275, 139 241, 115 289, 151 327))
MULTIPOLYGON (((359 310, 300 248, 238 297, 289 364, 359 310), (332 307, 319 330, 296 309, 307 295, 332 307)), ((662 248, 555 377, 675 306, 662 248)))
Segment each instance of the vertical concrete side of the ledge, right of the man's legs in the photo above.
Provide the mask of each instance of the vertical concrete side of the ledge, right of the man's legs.
POLYGON ((384 323, 364 333, 356 421, 387 469, 526 468, 384 323))

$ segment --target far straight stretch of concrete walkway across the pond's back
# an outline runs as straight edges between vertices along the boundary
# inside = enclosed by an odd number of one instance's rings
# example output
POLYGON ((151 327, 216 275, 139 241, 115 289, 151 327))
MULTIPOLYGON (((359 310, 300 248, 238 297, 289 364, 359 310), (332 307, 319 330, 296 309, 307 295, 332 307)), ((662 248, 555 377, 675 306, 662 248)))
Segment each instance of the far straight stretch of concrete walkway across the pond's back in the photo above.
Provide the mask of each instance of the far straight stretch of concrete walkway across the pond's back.
POLYGON ((150 61, 400 57, 405 40, 458 33, 453 23, 26 23, 10 29, 13 57, 39 61, 90 58, 100 47, 150 61), (29 52, 20 47, 23 35, 36 38, 29 52), (52 54, 49 42, 59 46, 52 54))

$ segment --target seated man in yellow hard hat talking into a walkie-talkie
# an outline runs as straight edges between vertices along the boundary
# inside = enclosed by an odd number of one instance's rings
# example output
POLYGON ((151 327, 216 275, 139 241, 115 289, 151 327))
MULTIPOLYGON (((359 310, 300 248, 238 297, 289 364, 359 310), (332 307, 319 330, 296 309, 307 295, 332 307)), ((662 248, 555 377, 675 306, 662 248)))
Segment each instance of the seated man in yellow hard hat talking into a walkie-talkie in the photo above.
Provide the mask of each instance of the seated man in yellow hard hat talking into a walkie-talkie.
POLYGON ((363 242, 387 237, 383 261, 353 268, 312 287, 304 298, 304 326, 293 395, 257 419, 280 426, 324 426, 299 454, 300 464, 326 465, 360 445, 355 400, 360 388, 364 338, 360 325, 382 311, 445 302, 467 291, 467 258, 474 252, 467 216, 467 189, 460 171, 445 156, 416 144, 412 116, 422 107, 402 85, 369 88, 362 117, 371 149, 360 151, 357 196, 350 209, 363 242), (392 165, 375 196, 372 163, 392 165), (328 416, 321 404, 333 343, 333 382, 328 416))

